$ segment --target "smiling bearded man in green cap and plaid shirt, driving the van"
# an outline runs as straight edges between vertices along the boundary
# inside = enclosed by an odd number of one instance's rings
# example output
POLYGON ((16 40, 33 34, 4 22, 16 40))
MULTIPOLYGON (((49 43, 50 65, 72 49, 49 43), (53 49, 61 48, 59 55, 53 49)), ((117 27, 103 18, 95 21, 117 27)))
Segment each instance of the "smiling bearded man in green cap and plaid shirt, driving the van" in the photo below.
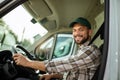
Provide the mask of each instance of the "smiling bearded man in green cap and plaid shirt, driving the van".
MULTIPOLYGON (((17 65, 46 71, 55 78, 62 78, 61 73, 68 72, 67 80, 91 80, 98 65, 101 53, 99 49, 91 44, 91 24, 85 18, 77 18, 70 24, 73 28, 73 37, 78 45, 75 55, 68 59, 50 62, 31 61, 23 55, 13 56, 17 65), (59 74, 59 75, 57 75, 59 74)), ((50 76, 51 76, 50 75, 50 76)))

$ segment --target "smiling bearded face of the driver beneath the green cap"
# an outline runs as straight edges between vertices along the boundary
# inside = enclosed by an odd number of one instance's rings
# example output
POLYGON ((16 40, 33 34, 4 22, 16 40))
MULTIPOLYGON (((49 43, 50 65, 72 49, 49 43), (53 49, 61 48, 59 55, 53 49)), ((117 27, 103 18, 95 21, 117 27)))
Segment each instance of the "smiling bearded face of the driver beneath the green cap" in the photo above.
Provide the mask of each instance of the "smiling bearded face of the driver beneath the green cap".
POLYGON ((73 26, 73 37, 77 44, 83 44, 90 39, 91 29, 80 24, 75 24, 73 26))

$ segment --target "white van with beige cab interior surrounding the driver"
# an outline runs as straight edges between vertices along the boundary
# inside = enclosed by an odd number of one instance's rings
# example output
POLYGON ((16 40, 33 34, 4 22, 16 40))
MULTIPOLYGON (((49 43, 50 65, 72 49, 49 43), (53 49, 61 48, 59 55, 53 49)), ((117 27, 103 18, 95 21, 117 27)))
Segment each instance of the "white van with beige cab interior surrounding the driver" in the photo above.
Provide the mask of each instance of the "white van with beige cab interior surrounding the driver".
POLYGON ((11 58, 14 51, 40 61, 74 54, 69 24, 85 17, 92 24, 91 43, 102 45, 102 64, 93 80, 119 80, 119 5, 120 0, 1 0, 0 79, 37 80, 36 75, 44 73, 16 66, 11 58))

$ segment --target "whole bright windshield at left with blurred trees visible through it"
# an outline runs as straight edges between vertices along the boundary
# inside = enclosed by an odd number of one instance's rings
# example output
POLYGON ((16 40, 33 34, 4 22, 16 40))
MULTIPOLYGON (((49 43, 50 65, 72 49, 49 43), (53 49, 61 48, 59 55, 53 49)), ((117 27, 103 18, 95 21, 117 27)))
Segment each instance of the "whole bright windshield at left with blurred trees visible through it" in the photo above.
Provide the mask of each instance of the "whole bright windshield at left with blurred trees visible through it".
POLYGON ((0 20, 0 49, 9 48, 15 44, 28 47, 44 36, 47 30, 39 23, 32 23, 32 19, 22 6, 5 15, 0 20))

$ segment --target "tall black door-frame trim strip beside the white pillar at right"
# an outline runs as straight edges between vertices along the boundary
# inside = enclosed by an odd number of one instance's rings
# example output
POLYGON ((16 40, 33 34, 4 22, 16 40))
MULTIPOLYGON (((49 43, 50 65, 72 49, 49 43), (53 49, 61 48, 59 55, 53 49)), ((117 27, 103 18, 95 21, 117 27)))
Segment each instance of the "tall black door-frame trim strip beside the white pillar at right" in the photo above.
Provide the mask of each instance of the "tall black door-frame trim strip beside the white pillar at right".
POLYGON ((105 75, 107 56, 108 56, 108 46, 109 46, 109 0, 105 0, 105 27, 104 27, 104 45, 103 45, 103 55, 102 63, 100 67, 100 72, 98 80, 103 80, 105 75))

